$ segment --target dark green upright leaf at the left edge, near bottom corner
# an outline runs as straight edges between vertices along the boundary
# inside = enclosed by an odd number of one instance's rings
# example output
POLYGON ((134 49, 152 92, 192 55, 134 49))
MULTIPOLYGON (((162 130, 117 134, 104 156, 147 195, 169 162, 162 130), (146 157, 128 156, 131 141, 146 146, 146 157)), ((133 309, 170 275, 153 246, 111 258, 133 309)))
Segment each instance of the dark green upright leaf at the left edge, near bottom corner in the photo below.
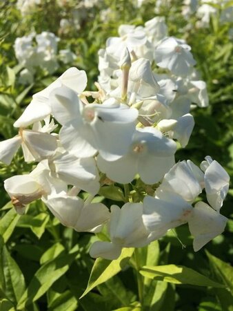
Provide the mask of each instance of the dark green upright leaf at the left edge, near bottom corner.
POLYGON ((1 249, 0 263, 1 290, 10 301, 17 303, 21 299, 26 285, 19 266, 10 256, 5 245, 1 249))

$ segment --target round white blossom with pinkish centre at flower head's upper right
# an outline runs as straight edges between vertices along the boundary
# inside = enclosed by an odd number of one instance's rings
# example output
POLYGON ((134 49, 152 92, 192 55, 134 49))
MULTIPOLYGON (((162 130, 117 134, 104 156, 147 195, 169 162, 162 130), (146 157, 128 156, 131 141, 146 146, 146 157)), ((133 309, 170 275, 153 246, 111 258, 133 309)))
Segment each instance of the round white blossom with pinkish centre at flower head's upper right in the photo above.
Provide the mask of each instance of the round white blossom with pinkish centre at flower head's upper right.
POLYGON ((168 37, 154 51, 154 60, 161 68, 168 68, 174 75, 186 76, 196 64, 190 46, 184 40, 168 37))

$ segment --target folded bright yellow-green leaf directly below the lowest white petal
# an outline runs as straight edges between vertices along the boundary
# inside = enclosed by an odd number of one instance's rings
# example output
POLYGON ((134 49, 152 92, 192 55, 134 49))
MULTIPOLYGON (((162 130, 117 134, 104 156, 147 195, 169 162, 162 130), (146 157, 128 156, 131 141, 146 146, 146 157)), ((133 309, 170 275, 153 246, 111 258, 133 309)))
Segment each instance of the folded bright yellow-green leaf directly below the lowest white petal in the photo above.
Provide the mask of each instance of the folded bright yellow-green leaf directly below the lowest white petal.
POLYGON ((121 256, 114 261, 108 261, 107 259, 97 258, 92 267, 92 272, 90 274, 90 279, 88 281, 88 287, 83 292, 83 298, 90 290, 95 288, 97 285, 107 281, 112 276, 120 272, 123 267, 128 263, 130 257, 134 252, 134 248, 123 248, 121 256))

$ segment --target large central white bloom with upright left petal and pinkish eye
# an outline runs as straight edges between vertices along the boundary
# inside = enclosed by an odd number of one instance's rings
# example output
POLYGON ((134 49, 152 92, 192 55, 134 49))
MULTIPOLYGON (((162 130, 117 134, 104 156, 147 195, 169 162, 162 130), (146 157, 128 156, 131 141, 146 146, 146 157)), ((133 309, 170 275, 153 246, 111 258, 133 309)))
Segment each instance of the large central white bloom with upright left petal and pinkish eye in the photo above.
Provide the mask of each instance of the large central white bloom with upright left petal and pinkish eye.
POLYGON ((63 127, 64 149, 79 158, 94 156, 117 160, 128 151, 135 130, 136 109, 109 99, 103 104, 83 105, 77 93, 65 86, 52 93, 52 113, 63 127))

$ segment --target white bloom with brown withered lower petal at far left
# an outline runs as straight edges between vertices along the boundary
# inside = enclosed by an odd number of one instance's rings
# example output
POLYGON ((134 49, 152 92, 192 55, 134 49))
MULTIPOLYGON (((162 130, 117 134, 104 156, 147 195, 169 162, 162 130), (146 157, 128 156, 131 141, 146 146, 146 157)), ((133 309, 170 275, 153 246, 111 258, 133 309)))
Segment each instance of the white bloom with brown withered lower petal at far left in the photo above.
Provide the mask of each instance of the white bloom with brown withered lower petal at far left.
POLYGON ((41 163, 30 174, 6 179, 4 187, 18 214, 23 214, 26 205, 42 196, 46 197, 48 194, 67 191, 66 184, 52 178, 49 169, 41 163))

